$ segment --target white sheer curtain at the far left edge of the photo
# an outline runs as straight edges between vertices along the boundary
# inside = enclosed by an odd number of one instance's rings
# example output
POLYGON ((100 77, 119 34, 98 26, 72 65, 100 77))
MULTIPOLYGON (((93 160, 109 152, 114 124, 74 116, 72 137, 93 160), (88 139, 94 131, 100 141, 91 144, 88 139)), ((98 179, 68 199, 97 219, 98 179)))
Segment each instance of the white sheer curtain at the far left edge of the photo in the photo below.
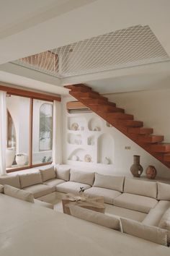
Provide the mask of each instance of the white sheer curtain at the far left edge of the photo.
POLYGON ((6 175, 6 92, 0 90, 0 175, 6 175))

